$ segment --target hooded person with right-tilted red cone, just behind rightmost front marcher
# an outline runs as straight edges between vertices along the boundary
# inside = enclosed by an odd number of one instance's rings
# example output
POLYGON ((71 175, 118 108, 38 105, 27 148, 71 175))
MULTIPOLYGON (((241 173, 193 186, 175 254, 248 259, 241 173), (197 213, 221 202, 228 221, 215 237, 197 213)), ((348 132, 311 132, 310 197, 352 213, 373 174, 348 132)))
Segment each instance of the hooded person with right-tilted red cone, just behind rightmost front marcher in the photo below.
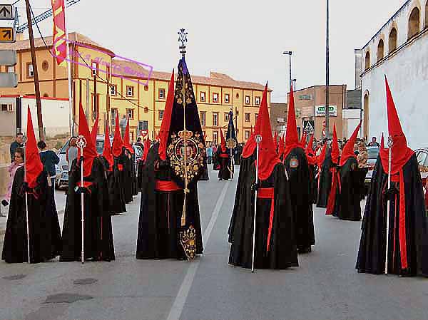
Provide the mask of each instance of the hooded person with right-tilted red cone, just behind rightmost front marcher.
POLYGON ((361 124, 355 128, 340 157, 340 188, 337 188, 335 213, 341 220, 361 220, 360 170, 354 153, 354 143, 361 124))

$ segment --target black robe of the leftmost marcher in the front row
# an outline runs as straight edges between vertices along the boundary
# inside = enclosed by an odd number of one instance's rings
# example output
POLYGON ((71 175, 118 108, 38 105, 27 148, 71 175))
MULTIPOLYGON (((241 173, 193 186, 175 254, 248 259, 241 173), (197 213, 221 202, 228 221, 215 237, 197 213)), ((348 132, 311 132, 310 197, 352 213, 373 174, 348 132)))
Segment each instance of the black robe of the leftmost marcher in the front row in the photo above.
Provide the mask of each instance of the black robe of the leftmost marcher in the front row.
MULTIPOLYGON (((28 262, 26 200, 23 184, 24 167, 21 167, 16 170, 14 176, 1 254, 1 259, 8 263, 28 262)), ((37 178, 37 186, 34 188, 37 198, 31 193, 28 194, 31 263, 46 262, 61 252, 61 234, 58 234, 55 225, 55 223, 59 224, 58 215, 52 212, 49 189, 51 187, 48 186, 46 173, 41 172, 37 178)))

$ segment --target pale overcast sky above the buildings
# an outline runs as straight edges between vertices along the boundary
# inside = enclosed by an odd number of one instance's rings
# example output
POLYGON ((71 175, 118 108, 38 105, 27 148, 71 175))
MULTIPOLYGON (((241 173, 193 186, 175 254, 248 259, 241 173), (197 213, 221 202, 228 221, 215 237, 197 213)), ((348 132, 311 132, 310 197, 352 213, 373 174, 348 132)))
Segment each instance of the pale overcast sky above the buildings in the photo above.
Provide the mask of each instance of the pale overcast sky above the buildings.
MULTIPOLYGON (((51 0, 31 0, 35 14, 51 0)), ((354 49, 370 40, 405 0, 330 0, 330 83, 355 88, 354 49)), ((69 31, 82 33, 119 56, 148 63, 156 71, 176 68, 180 28, 188 31, 190 72, 227 73, 265 83, 272 102, 285 102, 288 56, 297 89, 325 83, 326 0, 81 0, 67 11, 69 31)), ((20 23, 26 21, 19 1, 20 23)), ((39 23, 52 35, 52 19, 39 23)), ((39 36, 34 29, 35 36, 39 36)))

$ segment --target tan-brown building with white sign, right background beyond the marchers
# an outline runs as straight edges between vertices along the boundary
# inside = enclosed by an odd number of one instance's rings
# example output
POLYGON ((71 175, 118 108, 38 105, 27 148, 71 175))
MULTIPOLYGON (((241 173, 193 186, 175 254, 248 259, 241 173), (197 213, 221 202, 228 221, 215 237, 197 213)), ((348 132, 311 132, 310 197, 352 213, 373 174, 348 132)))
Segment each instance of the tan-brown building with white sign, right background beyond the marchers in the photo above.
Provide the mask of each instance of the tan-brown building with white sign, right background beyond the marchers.
MULTIPOLYGON (((338 138, 342 134, 342 110, 346 108, 346 85, 332 85, 329 89, 330 99, 330 134, 333 132, 333 125, 336 124, 338 138)), ((315 138, 323 137, 325 129, 325 86, 312 86, 295 91, 295 110, 297 118, 297 130, 300 135, 305 129, 305 123, 315 129, 315 138)), ((290 101, 290 94, 287 95, 290 101)))

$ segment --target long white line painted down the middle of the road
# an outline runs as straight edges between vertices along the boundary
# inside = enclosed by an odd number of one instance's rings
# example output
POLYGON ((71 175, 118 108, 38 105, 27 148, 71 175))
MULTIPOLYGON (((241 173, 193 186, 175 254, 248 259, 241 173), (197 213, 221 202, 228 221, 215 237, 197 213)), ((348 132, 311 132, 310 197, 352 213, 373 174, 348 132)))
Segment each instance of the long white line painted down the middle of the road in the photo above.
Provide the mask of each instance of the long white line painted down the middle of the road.
MULTIPOLYGON (((228 187, 230 182, 226 182, 223 187, 222 192, 220 193, 220 197, 218 197, 217 203, 215 204, 213 215, 211 216, 211 220, 208 223, 208 227, 203 232, 203 242, 204 247, 208 247, 208 240, 210 239, 211 232, 213 231, 214 224, 218 218, 218 214, 220 213, 220 209, 225 200, 226 192, 228 191, 228 187)), ((173 306, 170 309, 170 313, 168 314, 167 320, 178 320, 180 319, 181 313, 183 312, 185 301, 187 300, 190 288, 193 284, 193 279, 195 278, 196 271, 198 271, 200 260, 196 262, 190 262, 190 267, 185 274, 183 279, 183 283, 180 286, 180 290, 178 290, 177 296, 175 296, 175 301, 173 306)))

